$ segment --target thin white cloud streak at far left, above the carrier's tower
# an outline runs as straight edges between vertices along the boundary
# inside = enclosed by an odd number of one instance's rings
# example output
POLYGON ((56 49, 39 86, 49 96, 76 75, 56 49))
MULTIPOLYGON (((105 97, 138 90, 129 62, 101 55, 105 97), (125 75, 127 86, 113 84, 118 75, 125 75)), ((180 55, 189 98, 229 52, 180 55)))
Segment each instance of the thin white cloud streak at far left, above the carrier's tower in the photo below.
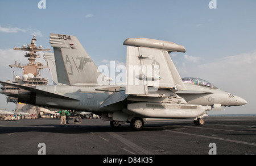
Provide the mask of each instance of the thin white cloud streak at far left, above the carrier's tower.
POLYGON ((30 33, 31 35, 35 35, 35 36, 39 36, 42 37, 43 34, 41 31, 36 30, 36 29, 31 29, 31 28, 27 28, 26 30, 23 30, 21 28, 18 27, 8 27, 8 28, 4 28, 0 25, 0 32, 5 32, 5 33, 18 33, 18 32, 26 32, 26 33, 30 33))

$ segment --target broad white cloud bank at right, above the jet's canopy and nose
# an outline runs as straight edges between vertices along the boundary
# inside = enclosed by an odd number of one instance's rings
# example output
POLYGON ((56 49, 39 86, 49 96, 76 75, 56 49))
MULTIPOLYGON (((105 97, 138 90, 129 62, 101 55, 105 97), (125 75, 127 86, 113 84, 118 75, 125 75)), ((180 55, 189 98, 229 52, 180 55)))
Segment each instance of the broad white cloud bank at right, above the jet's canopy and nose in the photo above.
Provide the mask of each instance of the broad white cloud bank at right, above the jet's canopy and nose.
POLYGON ((234 77, 236 77, 234 78, 236 80, 253 78, 254 82, 256 81, 256 51, 223 57, 213 61, 184 55, 184 59, 174 62, 181 77, 210 78, 210 80, 216 82, 221 80, 225 82, 234 77))

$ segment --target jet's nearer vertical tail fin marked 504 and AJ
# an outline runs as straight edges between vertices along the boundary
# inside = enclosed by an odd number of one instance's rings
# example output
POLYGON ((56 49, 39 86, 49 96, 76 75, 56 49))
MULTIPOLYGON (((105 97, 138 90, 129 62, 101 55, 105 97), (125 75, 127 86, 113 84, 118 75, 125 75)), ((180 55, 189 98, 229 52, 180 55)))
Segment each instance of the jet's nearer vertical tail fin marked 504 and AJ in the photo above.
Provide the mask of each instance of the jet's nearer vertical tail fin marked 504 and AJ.
POLYGON ((108 85, 76 36, 51 34, 57 81, 67 85, 108 85))

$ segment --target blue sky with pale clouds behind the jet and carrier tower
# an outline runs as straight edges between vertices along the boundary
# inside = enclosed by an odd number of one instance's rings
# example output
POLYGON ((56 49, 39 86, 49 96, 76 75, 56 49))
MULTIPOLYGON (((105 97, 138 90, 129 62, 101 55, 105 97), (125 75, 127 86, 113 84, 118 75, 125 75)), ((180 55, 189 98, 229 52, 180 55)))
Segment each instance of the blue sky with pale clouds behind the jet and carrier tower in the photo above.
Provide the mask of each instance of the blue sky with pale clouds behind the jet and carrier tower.
MULTIPOLYGON (((217 0, 217 9, 209 2, 46 0, 46 9, 38 9, 39 0, 0 1, 0 80, 12 80, 9 64, 27 62, 12 48, 32 35, 44 48, 51 48, 50 33, 75 35, 97 65, 125 64, 126 38, 152 38, 187 49, 171 54, 181 77, 203 78, 249 102, 225 113, 256 113, 256 1, 217 0)), ((0 97, 0 107, 13 107, 0 97)))

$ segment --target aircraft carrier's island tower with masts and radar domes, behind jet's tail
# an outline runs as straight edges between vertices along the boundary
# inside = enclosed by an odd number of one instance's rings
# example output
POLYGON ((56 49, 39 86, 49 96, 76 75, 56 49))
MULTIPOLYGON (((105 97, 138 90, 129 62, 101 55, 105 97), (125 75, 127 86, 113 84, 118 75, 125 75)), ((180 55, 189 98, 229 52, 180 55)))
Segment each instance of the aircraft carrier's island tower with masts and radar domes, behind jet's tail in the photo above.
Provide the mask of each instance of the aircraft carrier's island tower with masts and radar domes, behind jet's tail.
MULTIPOLYGON (((28 64, 21 64, 15 61, 15 64, 9 65, 9 67, 11 68, 20 68, 23 70, 22 77, 15 76, 13 78, 13 83, 15 84, 25 85, 25 86, 39 86, 39 85, 48 84, 48 79, 42 78, 41 76, 41 70, 49 68, 48 62, 47 62, 47 65, 44 65, 40 62, 35 62, 35 61, 36 61, 36 58, 40 58, 40 53, 36 53, 36 52, 51 51, 51 49, 43 49, 42 45, 37 47, 35 44, 35 41, 36 41, 35 37, 36 36, 33 36, 31 43, 27 44, 27 47, 26 45, 22 45, 21 48, 18 48, 18 47, 14 48, 14 50, 17 50, 17 51, 27 51, 24 56, 28 57, 28 62, 29 62, 28 64)), ((11 82, 11 81, 7 81, 7 82, 11 82)), ((17 99, 15 98, 15 95, 18 94, 18 90, 19 90, 18 88, 15 88, 9 85, 3 85, 1 87, 1 90, 2 90, 1 91, 2 94, 13 94, 13 97, 7 97, 7 103, 8 102, 16 103, 17 104, 16 109, 18 111, 30 113, 31 115, 34 115, 34 117, 39 116, 40 109, 42 108, 38 106, 18 103, 17 99)))

